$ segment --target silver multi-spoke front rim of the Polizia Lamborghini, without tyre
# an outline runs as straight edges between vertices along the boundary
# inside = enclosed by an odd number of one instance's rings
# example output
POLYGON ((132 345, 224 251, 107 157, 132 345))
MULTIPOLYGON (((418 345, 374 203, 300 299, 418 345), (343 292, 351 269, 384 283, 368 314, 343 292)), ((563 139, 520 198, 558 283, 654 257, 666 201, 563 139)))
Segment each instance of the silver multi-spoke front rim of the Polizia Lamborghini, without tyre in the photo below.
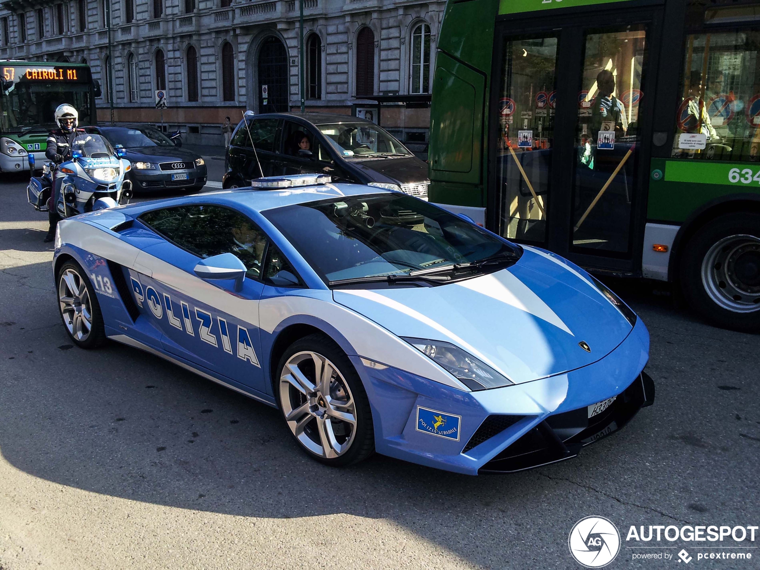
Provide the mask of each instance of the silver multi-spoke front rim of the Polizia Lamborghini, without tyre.
POLYGON ((280 375, 280 402, 290 431, 309 451, 328 459, 348 451, 356 405, 346 379, 325 356, 290 356, 280 375))

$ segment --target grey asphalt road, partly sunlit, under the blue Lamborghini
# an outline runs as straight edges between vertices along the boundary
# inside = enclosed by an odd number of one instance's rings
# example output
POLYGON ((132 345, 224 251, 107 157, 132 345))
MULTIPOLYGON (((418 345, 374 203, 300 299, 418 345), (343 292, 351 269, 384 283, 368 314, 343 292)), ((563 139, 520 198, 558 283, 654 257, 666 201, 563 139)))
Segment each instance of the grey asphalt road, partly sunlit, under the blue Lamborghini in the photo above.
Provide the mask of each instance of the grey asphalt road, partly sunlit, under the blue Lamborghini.
MULTIPOLYGON (((609 568, 659 568, 677 556, 632 554, 693 543, 626 542, 631 525, 760 523, 760 339, 674 309, 667 287, 611 283, 651 332, 657 401, 578 458, 510 476, 381 455, 337 470, 277 410, 119 344, 71 347, 24 187, 0 182, 2 570, 581 568, 568 533, 589 515, 622 534, 609 568)), ((756 567, 755 544, 711 568, 756 567)))

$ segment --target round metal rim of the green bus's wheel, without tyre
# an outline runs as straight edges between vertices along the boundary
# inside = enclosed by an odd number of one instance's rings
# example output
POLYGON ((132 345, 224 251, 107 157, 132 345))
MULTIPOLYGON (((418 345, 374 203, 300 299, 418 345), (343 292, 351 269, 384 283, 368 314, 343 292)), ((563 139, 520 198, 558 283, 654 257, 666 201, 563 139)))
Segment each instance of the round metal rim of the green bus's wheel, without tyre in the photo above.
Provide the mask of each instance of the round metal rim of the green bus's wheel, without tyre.
POLYGON ((760 239, 728 236, 702 260, 702 284, 718 306, 732 312, 760 310, 760 239))

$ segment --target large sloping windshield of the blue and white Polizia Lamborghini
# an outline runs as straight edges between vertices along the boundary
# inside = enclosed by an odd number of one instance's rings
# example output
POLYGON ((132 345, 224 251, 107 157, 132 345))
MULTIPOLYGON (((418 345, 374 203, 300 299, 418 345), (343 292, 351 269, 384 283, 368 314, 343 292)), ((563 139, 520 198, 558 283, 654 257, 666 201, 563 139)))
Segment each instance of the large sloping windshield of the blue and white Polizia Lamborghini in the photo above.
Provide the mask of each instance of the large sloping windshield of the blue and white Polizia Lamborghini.
POLYGON ((331 286, 473 277, 521 255, 439 207, 392 192, 262 212, 331 286))

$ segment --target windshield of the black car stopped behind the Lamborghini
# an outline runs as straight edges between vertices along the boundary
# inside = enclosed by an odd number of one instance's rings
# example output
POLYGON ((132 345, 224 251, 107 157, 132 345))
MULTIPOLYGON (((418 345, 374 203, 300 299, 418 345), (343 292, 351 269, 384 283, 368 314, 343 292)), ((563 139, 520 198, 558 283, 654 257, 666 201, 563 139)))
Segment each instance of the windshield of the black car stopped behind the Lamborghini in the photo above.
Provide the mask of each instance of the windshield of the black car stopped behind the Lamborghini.
POLYGON ((388 132, 366 122, 338 122, 317 128, 344 157, 413 156, 388 132))

